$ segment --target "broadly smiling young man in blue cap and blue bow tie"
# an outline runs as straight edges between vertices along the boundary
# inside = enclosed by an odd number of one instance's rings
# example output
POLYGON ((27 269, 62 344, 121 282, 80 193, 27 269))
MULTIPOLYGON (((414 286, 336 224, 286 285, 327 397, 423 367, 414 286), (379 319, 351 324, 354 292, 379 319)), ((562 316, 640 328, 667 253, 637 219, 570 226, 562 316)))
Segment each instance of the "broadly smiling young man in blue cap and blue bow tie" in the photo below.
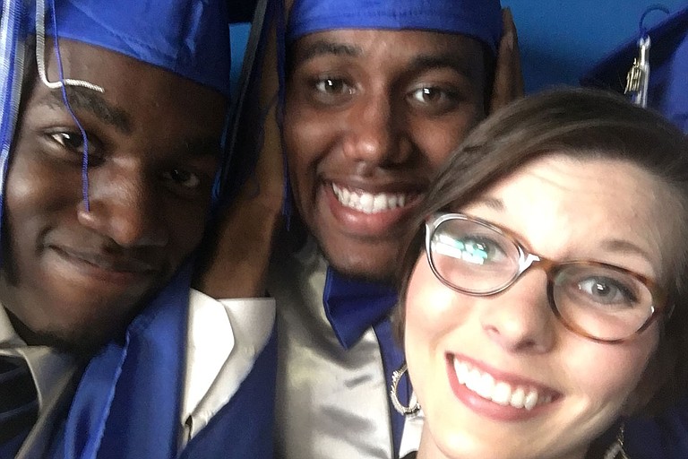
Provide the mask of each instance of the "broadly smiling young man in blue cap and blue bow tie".
MULTIPOLYGON (((204 284, 223 297, 267 289, 277 300, 280 457, 391 458, 417 446, 419 430, 404 427, 389 399, 403 361, 388 318, 393 273, 434 170, 471 126, 520 95, 506 17, 503 29, 496 0, 295 0, 284 30, 278 21, 282 130, 262 133, 256 205, 248 198, 228 217, 253 221, 257 242, 242 234, 237 247, 229 225, 204 284), (260 254, 271 246, 261 238, 271 240, 282 196, 280 155, 271 156, 280 134, 289 230, 274 242, 267 284, 251 291, 246 276, 247 289, 233 290, 237 266, 265 273, 260 254), (237 248, 245 256, 229 255, 237 248)), ((396 396, 409 403, 406 377, 396 396)))

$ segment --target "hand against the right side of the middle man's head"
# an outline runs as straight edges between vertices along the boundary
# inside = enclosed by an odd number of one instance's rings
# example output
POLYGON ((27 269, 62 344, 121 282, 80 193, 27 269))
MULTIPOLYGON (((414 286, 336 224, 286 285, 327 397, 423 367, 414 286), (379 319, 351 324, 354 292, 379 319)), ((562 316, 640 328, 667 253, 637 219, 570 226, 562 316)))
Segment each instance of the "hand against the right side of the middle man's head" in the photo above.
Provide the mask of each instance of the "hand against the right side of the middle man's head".
POLYGON ((520 71, 519 39, 513 23, 512 10, 502 10, 503 32, 497 49, 495 82, 489 103, 489 113, 523 96, 523 74, 520 71))

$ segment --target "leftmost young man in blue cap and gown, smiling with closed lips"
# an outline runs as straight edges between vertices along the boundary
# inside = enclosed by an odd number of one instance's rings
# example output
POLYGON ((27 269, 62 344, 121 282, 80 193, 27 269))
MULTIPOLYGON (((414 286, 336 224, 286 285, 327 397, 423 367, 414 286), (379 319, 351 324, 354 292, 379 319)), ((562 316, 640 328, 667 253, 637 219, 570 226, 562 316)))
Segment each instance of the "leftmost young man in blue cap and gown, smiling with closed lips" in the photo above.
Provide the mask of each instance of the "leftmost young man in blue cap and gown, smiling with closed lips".
POLYGON ((1 17, 0 457, 271 457, 273 301, 189 290, 225 161, 224 2, 1 17))

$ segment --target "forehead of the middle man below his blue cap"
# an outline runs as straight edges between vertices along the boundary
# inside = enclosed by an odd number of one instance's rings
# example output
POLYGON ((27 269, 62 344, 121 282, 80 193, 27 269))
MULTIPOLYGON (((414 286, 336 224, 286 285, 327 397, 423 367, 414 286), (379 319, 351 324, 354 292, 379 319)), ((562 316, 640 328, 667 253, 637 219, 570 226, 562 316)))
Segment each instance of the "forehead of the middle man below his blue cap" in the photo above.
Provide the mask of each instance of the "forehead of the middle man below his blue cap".
POLYGON ((382 65, 411 65, 447 62, 465 73, 483 78, 485 49, 468 36, 430 30, 343 29, 316 32, 293 44, 292 65, 319 56, 338 56, 349 60, 371 59, 382 65))

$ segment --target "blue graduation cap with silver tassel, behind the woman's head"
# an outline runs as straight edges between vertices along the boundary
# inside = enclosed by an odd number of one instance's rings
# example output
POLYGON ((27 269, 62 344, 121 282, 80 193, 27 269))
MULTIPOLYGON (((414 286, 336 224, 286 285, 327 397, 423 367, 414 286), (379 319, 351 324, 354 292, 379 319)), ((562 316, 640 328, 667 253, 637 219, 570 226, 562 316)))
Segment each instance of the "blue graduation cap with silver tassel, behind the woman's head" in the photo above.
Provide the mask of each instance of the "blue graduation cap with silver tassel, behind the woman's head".
MULTIPOLYGON (((650 39, 647 106, 688 133, 688 8, 645 34, 650 39)), ((581 84, 624 92, 636 56, 638 42, 632 40, 590 69, 581 84)))

